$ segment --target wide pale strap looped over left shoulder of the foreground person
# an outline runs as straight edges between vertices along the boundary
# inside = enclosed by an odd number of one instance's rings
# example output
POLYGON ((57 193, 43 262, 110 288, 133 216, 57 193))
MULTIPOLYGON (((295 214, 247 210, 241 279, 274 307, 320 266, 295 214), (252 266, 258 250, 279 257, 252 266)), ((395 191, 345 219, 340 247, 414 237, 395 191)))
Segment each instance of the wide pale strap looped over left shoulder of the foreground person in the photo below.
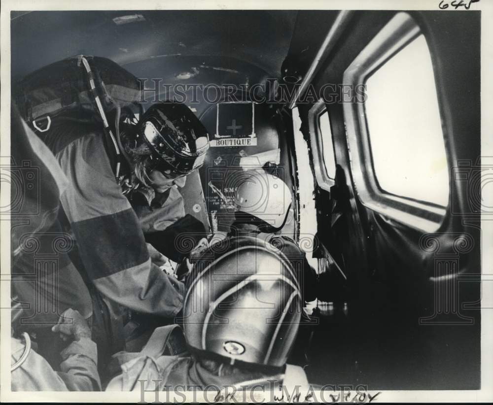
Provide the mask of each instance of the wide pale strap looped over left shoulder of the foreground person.
POLYGON ((156 328, 141 350, 141 355, 158 358, 162 355, 176 356, 186 351, 186 341, 179 325, 156 328))

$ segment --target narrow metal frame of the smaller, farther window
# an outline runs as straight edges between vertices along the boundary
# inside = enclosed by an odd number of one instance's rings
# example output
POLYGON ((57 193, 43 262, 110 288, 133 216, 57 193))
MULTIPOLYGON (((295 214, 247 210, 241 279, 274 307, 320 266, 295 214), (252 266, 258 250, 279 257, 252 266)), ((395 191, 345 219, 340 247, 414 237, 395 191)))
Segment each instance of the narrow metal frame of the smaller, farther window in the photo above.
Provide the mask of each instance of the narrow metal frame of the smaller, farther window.
POLYGON ((320 188, 330 191, 330 188, 335 185, 335 180, 330 178, 327 173, 327 167, 325 166, 325 159, 323 156, 323 141, 322 141, 322 133, 320 130, 320 117, 327 113, 327 118, 329 120, 330 136, 332 143, 332 153, 334 154, 334 163, 337 165, 337 160, 335 156, 334 150, 334 137, 332 135, 332 126, 330 122, 329 111, 325 102, 320 99, 318 100, 310 111, 308 112, 308 123, 310 129, 310 144, 312 146, 312 155, 313 155, 313 167, 315 170, 315 178, 317 179, 317 184, 320 188))

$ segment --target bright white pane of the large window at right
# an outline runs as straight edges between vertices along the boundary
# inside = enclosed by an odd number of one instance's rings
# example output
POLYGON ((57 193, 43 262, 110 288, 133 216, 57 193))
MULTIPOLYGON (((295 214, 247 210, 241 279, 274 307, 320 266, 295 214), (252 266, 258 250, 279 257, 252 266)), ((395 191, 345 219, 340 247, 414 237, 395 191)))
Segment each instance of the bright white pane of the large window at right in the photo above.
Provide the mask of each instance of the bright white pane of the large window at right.
POLYGON ((366 92, 370 148, 380 188, 446 206, 447 157, 424 36, 419 35, 378 68, 367 79, 366 92))

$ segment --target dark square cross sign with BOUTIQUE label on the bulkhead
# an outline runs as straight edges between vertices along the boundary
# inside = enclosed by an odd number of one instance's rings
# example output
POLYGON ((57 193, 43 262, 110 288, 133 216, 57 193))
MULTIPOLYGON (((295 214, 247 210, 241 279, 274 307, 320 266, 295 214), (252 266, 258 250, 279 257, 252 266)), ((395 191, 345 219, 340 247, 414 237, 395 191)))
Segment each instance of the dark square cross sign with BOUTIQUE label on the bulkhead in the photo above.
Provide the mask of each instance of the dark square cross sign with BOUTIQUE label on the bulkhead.
POLYGON ((253 102, 221 102, 217 104, 216 133, 212 147, 256 146, 255 104, 253 102))

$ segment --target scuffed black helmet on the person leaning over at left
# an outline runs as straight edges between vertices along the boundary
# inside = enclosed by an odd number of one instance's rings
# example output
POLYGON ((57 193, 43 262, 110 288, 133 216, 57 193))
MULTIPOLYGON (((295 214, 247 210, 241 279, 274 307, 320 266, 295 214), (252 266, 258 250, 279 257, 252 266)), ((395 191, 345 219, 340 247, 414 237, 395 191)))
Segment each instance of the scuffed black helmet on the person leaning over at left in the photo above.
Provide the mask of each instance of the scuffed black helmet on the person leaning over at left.
POLYGON ((195 114, 183 103, 153 104, 139 122, 137 147, 145 142, 152 150, 149 168, 170 170, 181 176, 198 169, 209 149, 209 136, 195 114))

